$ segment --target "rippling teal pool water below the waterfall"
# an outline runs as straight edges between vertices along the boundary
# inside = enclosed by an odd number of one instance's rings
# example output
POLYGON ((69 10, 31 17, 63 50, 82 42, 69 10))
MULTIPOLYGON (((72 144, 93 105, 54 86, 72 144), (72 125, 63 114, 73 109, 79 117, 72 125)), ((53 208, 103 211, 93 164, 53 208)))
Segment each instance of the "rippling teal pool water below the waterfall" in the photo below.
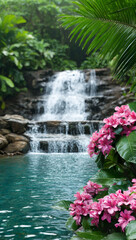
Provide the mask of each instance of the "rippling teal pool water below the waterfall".
POLYGON ((71 200, 96 173, 87 154, 28 154, 0 159, 0 239, 70 239, 68 213, 52 208, 71 200))

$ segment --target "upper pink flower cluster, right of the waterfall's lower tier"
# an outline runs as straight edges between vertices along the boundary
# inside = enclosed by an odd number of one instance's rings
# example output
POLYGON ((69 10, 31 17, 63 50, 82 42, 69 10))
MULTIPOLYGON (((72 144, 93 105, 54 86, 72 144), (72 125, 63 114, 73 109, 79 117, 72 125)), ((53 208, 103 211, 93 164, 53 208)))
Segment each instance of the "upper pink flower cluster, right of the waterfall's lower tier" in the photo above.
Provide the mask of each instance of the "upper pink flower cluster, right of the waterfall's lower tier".
POLYGON ((90 157, 94 154, 98 155, 100 152, 102 152, 103 155, 110 153, 116 135, 115 130, 118 127, 122 128, 120 134, 126 136, 136 129, 136 113, 131 111, 128 105, 116 107, 115 111, 111 117, 103 120, 105 125, 99 132, 94 132, 90 138, 90 144, 88 146, 90 157))

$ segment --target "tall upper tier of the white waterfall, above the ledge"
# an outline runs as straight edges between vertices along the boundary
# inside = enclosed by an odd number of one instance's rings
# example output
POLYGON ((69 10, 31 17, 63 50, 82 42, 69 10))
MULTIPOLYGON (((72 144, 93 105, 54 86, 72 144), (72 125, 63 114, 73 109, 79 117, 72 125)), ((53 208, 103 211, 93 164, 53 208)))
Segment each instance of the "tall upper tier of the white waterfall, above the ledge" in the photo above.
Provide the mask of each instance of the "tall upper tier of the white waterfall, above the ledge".
POLYGON ((80 121, 85 120, 85 79, 84 73, 64 71, 54 75, 47 86, 52 90, 44 107, 40 121, 80 121))

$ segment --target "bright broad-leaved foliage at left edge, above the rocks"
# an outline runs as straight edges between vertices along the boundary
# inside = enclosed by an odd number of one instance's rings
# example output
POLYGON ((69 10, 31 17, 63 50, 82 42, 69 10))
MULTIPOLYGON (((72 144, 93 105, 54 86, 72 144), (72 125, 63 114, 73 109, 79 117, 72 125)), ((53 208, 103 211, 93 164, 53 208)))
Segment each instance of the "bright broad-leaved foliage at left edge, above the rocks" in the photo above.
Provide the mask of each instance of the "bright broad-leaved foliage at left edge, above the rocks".
POLYGON ((0 101, 15 91, 26 90, 23 70, 44 68, 51 62, 54 52, 49 44, 38 41, 18 26, 26 21, 22 17, 6 15, 0 18, 0 101))

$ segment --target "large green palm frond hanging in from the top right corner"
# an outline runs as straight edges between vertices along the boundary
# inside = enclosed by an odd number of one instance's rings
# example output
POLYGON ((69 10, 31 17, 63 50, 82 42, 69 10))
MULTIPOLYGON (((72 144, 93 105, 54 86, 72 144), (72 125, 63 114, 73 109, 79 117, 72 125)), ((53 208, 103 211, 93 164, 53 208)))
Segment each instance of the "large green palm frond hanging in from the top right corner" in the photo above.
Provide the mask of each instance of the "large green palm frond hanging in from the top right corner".
POLYGON ((87 53, 100 51, 114 59, 114 73, 124 77, 136 64, 136 0, 77 0, 74 14, 61 20, 87 53), (77 9, 78 8, 78 9, 77 9))

